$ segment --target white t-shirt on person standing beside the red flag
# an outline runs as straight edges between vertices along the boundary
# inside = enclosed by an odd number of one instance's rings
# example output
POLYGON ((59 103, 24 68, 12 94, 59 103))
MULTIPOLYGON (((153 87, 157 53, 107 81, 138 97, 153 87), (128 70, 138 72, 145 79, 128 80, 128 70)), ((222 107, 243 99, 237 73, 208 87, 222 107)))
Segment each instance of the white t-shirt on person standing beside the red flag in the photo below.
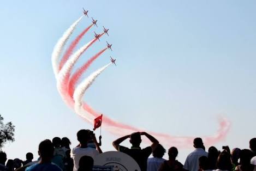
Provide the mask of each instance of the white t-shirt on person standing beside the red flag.
POLYGON ((99 154, 99 152, 96 149, 93 149, 93 148, 90 148, 90 147, 87 147, 87 148, 80 148, 80 147, 73 148, 71 153, 70 153, 71 158, 73 158, 73 160, 74 160, 74 169, 73 169, 73 171, 78 170, 79 160, 82 156, 90 156, 94 160, 94 157, 97 156, 98 154, 99 154))

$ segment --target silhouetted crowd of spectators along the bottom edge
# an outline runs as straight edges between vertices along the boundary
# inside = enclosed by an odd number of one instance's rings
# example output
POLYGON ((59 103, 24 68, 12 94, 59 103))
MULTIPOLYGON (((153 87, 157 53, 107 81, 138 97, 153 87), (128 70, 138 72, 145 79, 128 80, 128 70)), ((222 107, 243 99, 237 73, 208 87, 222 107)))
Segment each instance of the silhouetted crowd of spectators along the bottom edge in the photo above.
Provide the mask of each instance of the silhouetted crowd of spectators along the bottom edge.
MULTIPOLYGON (((90 130, 80 130, 77 133, 79 144, 70 149, 71 142, 67 137, 62 139, 54 137, 52 141, 45 139, 39 144, 38 160, 34 160, 33 154, 28 152, 26 160, 19 158, 7 161, 5 152, 0 152, 0 171, 91 171, 94 158, 102 153, 99 142, 90 130)), ((112 143, 117 151, 124 152, 132 157, 139 165, 141 171, 172 171, 172 170, 229 170, 229 171, 256 171, 256 138, 249 141, 249 149, 223 146, 218 150, 215 146, 205 149, 203 140, 195 138, 192 151, 184 164, 176 160, 178 149, 174 146, 168 150, 168 160, 163 158, 166 150, 158 140, 146 132, 134 132, 123 136, 112 143), (151 146, 141 148, 141 136, 151 141, 151 146), (120 145, 129 138, 131 148, 120 145), (148 158, 152 154, 153 157, 148 158)))

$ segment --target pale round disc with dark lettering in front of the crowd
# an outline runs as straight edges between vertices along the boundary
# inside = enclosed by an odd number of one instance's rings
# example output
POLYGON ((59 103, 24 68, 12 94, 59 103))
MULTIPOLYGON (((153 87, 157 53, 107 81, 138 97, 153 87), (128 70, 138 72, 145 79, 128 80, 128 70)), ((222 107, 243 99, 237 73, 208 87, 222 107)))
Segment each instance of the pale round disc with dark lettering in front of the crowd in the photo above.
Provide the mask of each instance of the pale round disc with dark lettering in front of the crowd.
POLYGON ((139 164, 132 157, 118 151, 108 151, 97 155, 94 158, 94 167, 97 168, 97 166, 109 166, 114 171, 140 171, 139 164))

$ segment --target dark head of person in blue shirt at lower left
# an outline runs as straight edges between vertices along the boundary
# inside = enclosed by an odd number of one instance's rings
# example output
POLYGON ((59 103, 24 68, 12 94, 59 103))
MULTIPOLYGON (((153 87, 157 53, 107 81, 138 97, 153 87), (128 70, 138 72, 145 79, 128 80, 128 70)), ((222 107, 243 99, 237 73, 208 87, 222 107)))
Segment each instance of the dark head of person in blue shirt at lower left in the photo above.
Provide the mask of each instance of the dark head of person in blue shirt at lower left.
POLYGON ((41 160, 51 160, 53 156, 54 147, 49 139, 45 139, 39 144, 38 154, 41 160))

